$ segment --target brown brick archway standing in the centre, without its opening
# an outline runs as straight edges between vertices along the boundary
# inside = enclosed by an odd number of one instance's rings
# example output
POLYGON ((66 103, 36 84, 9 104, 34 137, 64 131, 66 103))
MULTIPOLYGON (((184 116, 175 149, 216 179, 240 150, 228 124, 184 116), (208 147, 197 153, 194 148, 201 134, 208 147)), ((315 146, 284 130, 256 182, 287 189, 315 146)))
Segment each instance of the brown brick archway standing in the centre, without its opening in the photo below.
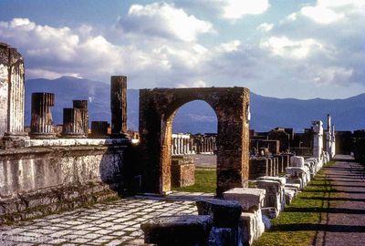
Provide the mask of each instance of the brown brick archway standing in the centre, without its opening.
POLYGON ((249 90, 245 87, 155 88, 140 90, 142 190, 171 190, 172 120, 177 109, 203 100, 218 119, 217 196, 246 187, 248 180, 249 90))

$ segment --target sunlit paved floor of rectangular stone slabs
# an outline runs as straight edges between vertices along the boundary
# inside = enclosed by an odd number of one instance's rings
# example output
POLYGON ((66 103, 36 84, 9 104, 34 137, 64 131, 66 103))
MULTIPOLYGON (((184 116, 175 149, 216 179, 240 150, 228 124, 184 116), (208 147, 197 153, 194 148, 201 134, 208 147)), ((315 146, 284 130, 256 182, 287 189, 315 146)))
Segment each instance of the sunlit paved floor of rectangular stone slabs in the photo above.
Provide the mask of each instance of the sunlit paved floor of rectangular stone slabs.
POLYGON ((162 215, 197 214, 206 193, 172 193, 100 203, 43 219, 0 227, 0 245, 143 245, 142 222, 162 215))

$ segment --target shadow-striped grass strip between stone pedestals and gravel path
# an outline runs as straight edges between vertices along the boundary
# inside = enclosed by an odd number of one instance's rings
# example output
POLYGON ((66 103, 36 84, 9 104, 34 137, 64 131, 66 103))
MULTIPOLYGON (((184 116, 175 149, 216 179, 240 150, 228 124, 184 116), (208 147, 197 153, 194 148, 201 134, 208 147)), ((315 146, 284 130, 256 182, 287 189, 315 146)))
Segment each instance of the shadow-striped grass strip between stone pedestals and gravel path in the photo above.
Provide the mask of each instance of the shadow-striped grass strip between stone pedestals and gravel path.
MULTIPOLYGON (((332 164, 328 163, 327 166, 332 164)), ((266 231, 254 245, 310 245, 316 236, 316 225, 324 220, 323 211, 329 208, 328 198, 339 197, 336 191, 330 186, 324 171, 319 171, 280 216, 271 220, 271 230, 266 231)))

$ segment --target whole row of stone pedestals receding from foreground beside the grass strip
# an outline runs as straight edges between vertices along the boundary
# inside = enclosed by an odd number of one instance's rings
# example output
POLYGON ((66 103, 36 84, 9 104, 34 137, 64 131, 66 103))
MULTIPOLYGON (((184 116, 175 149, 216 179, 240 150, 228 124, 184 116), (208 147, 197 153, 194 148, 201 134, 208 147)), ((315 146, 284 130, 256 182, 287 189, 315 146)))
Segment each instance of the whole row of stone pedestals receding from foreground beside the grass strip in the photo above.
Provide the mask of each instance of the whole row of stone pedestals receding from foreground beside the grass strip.
MULTIPOLYGON (((267 163, 263 159, 260 161, 267 163)), ((271 227, 270 220, 275 219, 329 161, 329 156, 304 159, 287 155, 286 161, 289 161, 286 176, 259 177, 255 180, 256 188, 227 190, 223 193, 223 200, 196 201, 199 215, 166 216, 142 224, 145 242, 157 245, 252 245, 271 227)))

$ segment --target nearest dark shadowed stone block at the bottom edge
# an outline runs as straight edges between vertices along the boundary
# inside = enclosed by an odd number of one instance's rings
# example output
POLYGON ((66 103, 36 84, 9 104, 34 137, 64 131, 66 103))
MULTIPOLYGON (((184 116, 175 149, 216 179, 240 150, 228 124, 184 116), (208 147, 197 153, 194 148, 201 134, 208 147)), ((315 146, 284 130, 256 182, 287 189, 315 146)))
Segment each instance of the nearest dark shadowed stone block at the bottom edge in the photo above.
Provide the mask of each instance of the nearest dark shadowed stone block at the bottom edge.
POLYGON ((141 224, 144 241, 157 245, 208 245, 212 229, 208 215, 165 216, 141 224))

